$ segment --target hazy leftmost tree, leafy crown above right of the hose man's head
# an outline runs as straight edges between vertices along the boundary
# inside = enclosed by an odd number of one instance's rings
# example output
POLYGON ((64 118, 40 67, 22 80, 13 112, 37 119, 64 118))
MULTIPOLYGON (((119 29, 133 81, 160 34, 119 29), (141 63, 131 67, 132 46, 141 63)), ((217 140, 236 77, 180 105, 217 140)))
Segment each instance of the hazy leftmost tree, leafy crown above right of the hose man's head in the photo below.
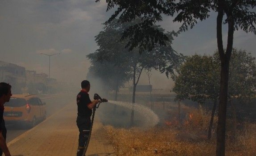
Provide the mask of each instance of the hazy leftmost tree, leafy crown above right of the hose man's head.
POLYGON ((124 54, 124 41, 121 39, 120 31, 117 25, 113 23, 104 24, 104 30, 95 36, 95 41, 99 48, 87 58, 91 60, 89 74, 98 76, 106 84, 106 89, 115 91, 115 100, 117 92, 124 83, 132 78, 130 60, 128 54, 124 54), (111 34, 111 35, 109 35, 111 34))

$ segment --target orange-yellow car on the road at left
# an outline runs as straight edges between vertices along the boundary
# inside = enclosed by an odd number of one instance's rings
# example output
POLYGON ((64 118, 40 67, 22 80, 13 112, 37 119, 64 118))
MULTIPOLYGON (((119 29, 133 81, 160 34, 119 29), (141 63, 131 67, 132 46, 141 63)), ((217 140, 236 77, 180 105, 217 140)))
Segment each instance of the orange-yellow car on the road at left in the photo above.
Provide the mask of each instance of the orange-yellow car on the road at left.
POLYGON ((30 128, 46 119, 46 103, 36 95, 14 94, 4 105, 5 124, 26 124, 30 128))

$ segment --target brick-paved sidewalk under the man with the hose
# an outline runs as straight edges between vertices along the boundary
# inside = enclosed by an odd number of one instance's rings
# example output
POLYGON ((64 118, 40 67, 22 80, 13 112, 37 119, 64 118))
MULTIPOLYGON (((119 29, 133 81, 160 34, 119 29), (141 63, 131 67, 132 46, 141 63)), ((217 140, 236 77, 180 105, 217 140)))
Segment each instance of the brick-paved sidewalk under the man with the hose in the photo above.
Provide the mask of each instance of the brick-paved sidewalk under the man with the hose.
MULTIPOLYGON (((12 156, 76 156, 79 135, 76 109, 76 105, 69 104, 9 142, 12 156)), ((97 110, 86 156, 116 156, 105 137, 97 110)))

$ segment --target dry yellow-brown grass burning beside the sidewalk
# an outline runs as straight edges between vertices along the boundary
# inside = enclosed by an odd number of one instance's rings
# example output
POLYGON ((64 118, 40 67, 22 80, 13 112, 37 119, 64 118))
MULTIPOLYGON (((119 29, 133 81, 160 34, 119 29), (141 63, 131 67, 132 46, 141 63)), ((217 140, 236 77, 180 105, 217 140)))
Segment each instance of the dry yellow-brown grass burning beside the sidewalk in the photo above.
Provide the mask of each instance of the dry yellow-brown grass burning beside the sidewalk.
MULTIPOLYGON (((117 156, 214 156, 217 118, 214 119, 211 140, 206 137, 209 121, 209 112, 192 109, 187 112, 187 120, 181 125, 174 119, 169 121, 169 125, 147 130, 117 129, 112 126, 105 126, 105 129, 117 156)), ((227 156, 256 155, 256 124, 243 125, 235 141, 227 137, 227 156)))

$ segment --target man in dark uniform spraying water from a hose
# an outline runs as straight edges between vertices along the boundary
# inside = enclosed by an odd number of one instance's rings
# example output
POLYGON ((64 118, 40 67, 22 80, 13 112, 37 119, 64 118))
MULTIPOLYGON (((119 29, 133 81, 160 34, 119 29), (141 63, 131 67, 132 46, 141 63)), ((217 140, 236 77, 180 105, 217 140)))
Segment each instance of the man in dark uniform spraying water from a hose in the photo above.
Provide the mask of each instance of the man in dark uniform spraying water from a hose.
POLYGON ((76 125, 79 129, 78 149, 76 156, 81 156, 84 150, 84 145, 88 140, 92 109, 99 102, 99 100, 91 101, 88 92, 90 91, 90 82, 84 80, 81 82, 82 90, 76 96, 77 104, 77 118, 76 125))

